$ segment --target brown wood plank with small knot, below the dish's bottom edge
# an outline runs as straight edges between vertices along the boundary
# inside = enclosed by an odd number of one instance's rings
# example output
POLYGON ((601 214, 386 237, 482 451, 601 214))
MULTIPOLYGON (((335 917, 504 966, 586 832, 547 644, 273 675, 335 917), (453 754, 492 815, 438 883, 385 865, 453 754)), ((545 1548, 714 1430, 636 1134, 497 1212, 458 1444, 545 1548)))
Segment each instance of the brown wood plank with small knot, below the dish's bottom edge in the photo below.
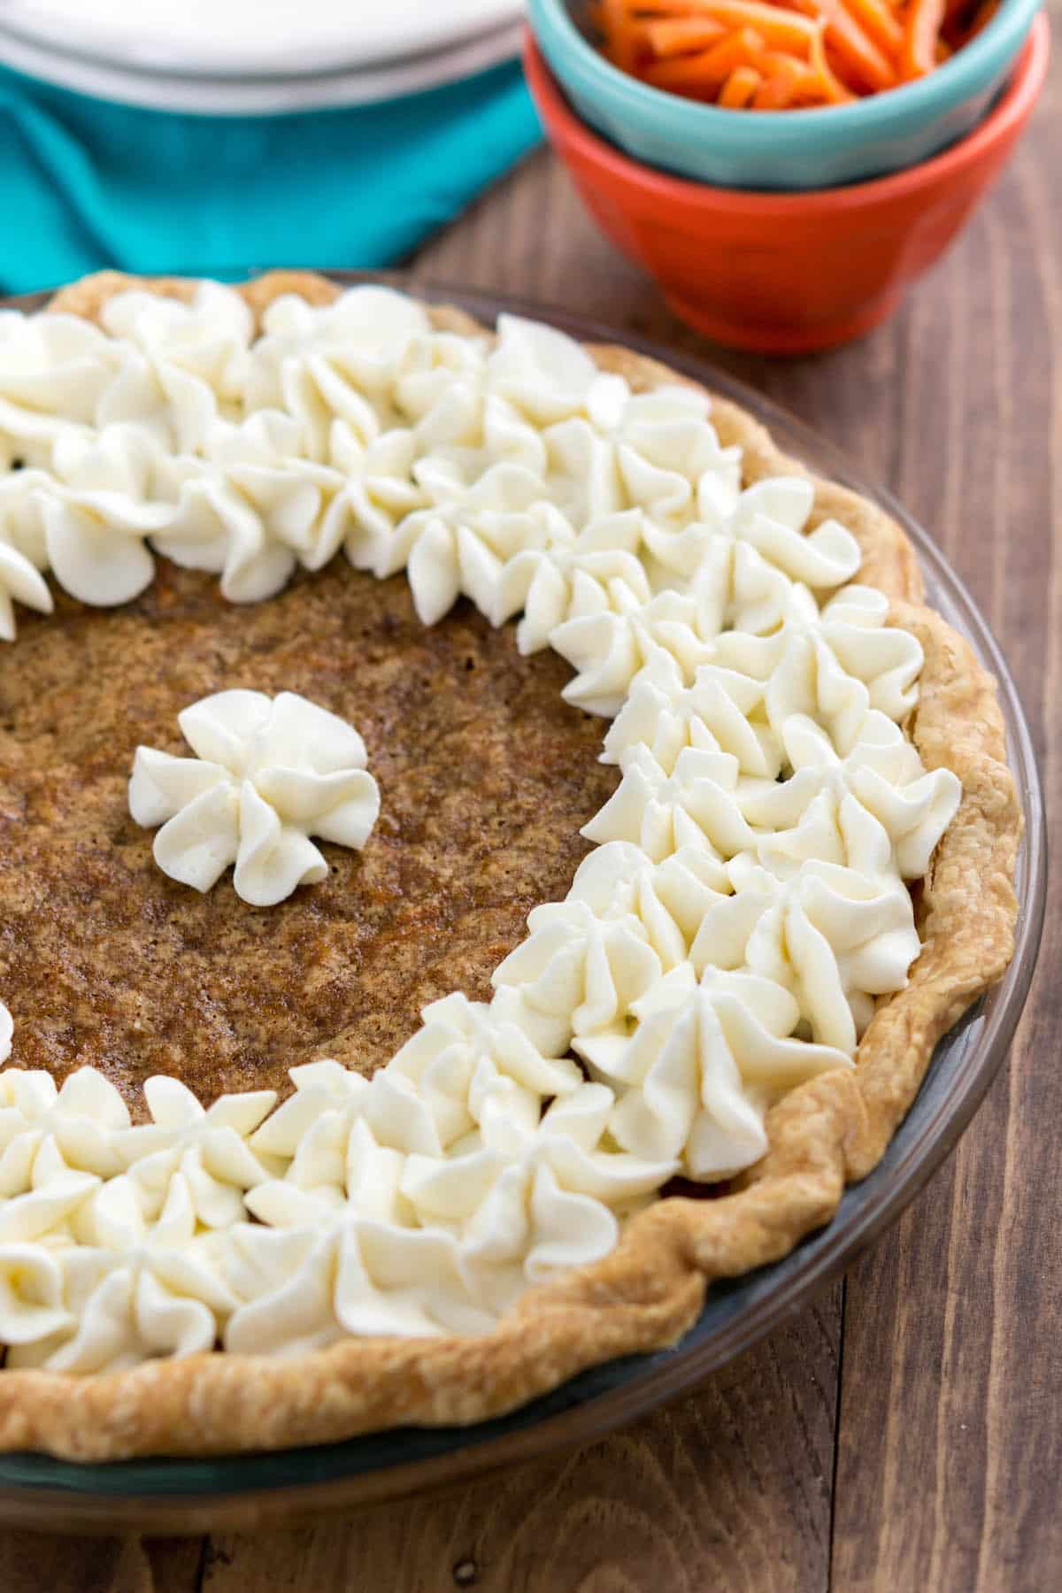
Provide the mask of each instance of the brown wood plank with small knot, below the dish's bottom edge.
POLYGON ((823 1587, 834 1306, 828 1298, 742 1357, 697 1400, 576 1454, 454 1497, 366 1510, 353 1525, 279 1534, 255 1547, 218 1539, 223 1558, 209 1566, 204 1593, 823 1587))

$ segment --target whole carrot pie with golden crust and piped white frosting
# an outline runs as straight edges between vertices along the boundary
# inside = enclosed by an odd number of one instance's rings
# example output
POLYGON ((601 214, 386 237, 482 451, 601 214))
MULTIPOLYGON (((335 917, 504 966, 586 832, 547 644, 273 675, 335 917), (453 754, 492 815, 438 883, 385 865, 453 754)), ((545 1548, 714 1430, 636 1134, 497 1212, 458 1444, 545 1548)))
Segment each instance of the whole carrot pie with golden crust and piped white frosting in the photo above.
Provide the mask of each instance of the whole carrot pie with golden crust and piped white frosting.
POLYGON ((995 685, 904 534, 642 355, 108 272, 0 317, 0 465, 3 1448, 672 1344, 1011 957, 995 685))

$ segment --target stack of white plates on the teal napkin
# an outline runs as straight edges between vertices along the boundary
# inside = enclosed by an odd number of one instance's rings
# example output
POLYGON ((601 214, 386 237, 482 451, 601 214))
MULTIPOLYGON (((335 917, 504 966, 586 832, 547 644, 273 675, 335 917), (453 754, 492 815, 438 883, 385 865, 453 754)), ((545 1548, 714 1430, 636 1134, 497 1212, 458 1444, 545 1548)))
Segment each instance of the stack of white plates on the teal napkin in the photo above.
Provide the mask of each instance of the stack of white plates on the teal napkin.
POLYGON ((522 10, 522 0, 0 0, 0 62, 154 110, 371 105, 516 56, 522 10))

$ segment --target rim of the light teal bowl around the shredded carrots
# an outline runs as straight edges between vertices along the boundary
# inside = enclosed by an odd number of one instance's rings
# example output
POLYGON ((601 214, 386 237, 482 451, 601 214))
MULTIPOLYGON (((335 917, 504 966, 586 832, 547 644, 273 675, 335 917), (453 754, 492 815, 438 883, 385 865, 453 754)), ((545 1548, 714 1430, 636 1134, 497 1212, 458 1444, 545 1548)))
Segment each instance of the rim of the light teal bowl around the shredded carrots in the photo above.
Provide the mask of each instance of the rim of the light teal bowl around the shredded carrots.
POLYGON ((541 11, 549 24, 557 29, 564 43, 575 53, 584 73, 610 96, 626 99, 627 104, 638 104, 651 115, 666 115, 675 132, 704 132, 713 127, 720 132, 724 126, 736 129, 744 126, 742 137, 748 145, 766 150, 779 134, 782 126, 793 132, 796 126, 810 134, 833 127, 837 132, 880 132, 887 134, 898 116, 904 112, 917 115, 925 110, 930 115, 944 115, 963 99, 976 94, 982 84, 968 84, 971 76, 978 76, 978 67, 989 67, 995 56, 1017 53, 1019 37, 1035 22, 1043 0, 1003 0, 992 21, 981 32, 957 49, 955 54, 939 67, 914 83, 901 83, 895 89, 880 94, 868 94, 852 105, 822 105, 802 110, 767 110, 755 116, 736 121, 736 112, 721 105, 704 105, 699 100, 656 89, 650 83, 629 72, 621 72, 610 61, 594 49, 572 21, 572 13, 565 0, 529 0, 529 27, 535 25, 535 11, 541 11), (947 91, 952 92, 947 92, 947 91), (826 121, 823 121, 826 118, 826 121))

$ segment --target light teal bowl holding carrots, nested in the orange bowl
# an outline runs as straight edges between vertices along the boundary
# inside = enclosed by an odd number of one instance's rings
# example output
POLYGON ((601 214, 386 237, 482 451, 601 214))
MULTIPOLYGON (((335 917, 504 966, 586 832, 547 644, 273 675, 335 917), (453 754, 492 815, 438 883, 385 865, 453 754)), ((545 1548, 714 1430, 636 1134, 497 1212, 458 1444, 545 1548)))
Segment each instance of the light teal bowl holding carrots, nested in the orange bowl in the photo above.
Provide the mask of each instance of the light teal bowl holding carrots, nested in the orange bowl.
POLYGON ((586 0, 527 0, 538 46, 578 116, 645 166, 716 188, 834 188, 917 166, 981 121, 1040 0, 1003 0, 917 83, 823 110, 720 110, 619 72, 594 48, 586 0))

